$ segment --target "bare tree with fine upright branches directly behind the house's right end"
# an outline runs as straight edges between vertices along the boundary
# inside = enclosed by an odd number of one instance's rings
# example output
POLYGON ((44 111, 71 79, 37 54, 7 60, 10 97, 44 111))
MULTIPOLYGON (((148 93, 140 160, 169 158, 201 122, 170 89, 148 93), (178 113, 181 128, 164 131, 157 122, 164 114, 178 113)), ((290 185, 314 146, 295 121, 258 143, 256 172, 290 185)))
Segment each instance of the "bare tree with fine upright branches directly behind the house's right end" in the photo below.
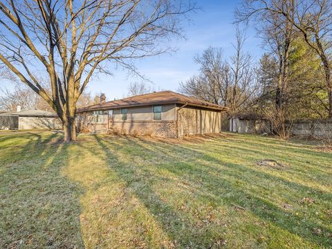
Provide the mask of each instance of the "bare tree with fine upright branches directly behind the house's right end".
POLYGON ((230 113, 244 109, 255 98, 257 77, 252 57, 243 52, 245 34, 237 28, 235 53, 223 57, 221 48, 209 47, 195 61, 201 66, 200 74, 180 84, 182 93, 194 95, 230 108, 230 113))

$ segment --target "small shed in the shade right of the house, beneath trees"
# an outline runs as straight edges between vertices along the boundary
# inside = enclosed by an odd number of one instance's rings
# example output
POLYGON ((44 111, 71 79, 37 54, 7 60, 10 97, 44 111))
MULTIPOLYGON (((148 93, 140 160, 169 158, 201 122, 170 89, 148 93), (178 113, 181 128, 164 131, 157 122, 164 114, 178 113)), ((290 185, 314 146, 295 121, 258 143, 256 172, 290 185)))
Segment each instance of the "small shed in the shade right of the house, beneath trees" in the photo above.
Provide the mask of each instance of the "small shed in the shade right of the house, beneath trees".
POLYGON ((268 119, 255 114, 237 114, 229 118, 230 131, 237 133, 271 133, 268 119))

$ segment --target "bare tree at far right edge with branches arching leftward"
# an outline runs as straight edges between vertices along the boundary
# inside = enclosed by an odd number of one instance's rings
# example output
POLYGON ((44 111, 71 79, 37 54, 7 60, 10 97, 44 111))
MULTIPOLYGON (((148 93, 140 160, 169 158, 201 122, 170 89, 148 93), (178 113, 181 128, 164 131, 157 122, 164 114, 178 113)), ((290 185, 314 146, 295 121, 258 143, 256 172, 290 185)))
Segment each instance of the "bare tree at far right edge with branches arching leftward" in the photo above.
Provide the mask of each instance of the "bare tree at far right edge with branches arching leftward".
POLYGON ((250 18, 256 18, 257 21, 257 17, 266 13, 285 18, 320 57, 328 99, 326 111, 332 118, 332 1, 244 0, 237 10, 237 17, 239 21, 248 21, 250 18))

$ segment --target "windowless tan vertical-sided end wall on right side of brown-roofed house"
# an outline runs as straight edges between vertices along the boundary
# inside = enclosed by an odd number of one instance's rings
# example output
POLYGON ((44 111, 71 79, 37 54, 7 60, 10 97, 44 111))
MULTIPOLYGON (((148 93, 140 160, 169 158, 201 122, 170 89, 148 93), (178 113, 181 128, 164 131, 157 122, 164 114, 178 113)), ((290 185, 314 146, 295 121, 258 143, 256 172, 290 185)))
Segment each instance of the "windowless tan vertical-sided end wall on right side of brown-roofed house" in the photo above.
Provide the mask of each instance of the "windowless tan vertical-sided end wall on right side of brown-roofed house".
POLYGON ((204 133, 220 133, 222 114, 220 111, 194 107, 178 108, 178 136, 204 133))

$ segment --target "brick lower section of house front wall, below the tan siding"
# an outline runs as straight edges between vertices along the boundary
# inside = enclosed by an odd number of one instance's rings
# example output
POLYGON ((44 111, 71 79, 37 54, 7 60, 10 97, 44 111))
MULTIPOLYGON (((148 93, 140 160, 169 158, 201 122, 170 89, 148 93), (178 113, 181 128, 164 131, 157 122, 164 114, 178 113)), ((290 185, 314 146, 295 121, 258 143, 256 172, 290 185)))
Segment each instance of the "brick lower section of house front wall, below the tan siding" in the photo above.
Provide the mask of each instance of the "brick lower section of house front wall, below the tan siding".
POLYGON ((110 128, 115 133, 176 138, 175 121, 122 121, 113 122, 110 128))

